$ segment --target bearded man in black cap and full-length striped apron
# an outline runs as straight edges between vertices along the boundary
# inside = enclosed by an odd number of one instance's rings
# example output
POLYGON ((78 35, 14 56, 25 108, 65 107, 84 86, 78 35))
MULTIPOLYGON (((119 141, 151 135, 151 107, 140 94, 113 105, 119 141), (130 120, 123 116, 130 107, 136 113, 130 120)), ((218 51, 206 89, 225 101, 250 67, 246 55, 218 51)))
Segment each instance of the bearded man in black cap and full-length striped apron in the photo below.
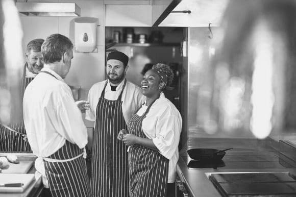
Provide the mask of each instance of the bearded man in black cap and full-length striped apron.
POLYGON ((127 146, 117 134, 127 129, 132 115, 144 103, 141 89, 126 80, 129 58, 121 52, 107 57, 108 80, 94 84, 88 93, 86 119, 94 121, 91 191, 93 196, 128 196, 127 146))

